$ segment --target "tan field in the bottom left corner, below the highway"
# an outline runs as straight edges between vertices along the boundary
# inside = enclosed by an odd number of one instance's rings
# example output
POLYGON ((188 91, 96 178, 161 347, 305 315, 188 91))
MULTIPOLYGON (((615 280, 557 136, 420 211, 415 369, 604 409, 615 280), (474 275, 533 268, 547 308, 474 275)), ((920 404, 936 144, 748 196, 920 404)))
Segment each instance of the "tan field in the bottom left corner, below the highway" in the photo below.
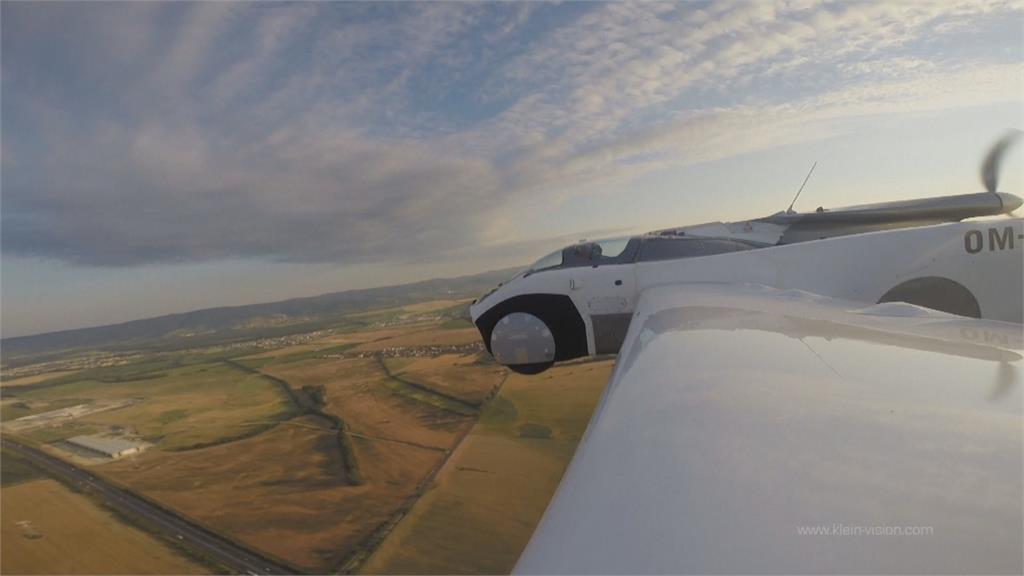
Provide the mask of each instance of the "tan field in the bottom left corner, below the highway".
POLYGON ((52 480, 0 490, 4 574, 209 574, 52 480))

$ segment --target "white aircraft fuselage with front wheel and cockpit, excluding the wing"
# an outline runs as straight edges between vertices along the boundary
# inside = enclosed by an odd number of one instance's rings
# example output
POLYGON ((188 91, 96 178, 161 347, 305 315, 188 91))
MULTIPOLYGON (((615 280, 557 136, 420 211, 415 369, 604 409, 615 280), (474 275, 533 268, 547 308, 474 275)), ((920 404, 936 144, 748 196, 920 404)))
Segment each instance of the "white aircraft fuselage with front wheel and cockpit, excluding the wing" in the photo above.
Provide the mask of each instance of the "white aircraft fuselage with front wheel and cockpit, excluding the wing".
MULTIPOLYGON (((999 196, 1020 205, 1016 197, 999 196)), ((771 219, 566 247, 475 301, 472 320, 496 360, 524 373, 617 353, 640 293, 670 284, 752 283, 1022 322, 1020 218, 853 231, 780 245, 765 236, 774 234, 777 242, 785 234, 771 219)))

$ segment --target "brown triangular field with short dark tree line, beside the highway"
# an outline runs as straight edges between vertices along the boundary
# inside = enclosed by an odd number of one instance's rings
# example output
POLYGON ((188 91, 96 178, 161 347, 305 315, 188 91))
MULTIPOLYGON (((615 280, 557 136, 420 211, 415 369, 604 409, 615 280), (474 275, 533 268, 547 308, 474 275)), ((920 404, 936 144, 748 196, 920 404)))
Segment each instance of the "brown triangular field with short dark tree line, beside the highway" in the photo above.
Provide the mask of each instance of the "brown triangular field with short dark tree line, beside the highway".
POLYGON ((314 573, 332 571, 432 470, 441 452, 355 439, 366 481, 341 483, 336 435, 304 417, 230 444, 97 467, 205 526, 314 573))

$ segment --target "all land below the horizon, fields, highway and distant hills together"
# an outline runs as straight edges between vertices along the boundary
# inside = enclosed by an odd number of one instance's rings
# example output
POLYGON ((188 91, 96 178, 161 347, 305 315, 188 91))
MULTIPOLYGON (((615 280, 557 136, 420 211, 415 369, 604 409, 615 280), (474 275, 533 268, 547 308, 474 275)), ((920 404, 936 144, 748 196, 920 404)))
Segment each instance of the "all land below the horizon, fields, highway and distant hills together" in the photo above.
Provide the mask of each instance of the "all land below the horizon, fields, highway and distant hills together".
POLYGON ((0 570, 508 572, 611 369, 494 363, 508 275, 5 339, 0 570))

